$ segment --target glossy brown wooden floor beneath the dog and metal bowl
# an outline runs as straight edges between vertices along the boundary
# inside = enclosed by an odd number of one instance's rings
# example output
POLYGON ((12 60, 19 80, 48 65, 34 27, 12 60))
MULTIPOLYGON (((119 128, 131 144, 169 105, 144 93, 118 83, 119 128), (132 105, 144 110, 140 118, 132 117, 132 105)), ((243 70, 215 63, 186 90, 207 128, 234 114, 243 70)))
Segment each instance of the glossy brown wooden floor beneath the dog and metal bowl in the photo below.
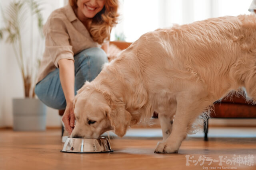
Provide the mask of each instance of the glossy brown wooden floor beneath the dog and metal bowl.
POLYGON ((256 170, 256 138, 210 138, 208 142, 202 138, 186 139, 178 154, 154 154, 158 141, 160 139, 111 139, 112 153, 74 154, 60 152, 63 144, 59 129, 0 130, 0 170, 201 170, 211 167, 256 170), (246 165, 232 162, 248 158, 249 154, 254 158, 245 162, 246 165), (222 166, 219 156, 223 156, 222 166))

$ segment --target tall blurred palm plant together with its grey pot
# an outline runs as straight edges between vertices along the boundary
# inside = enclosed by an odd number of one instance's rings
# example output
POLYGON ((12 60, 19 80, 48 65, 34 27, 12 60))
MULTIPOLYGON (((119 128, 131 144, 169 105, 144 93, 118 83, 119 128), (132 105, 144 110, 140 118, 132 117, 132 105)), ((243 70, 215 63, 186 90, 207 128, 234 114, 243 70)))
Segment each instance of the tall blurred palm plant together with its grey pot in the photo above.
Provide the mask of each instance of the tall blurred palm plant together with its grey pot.
POLYGON ((12 45, 24 86, 24 98, 12 100, 14 130, 46 129, 46 106, 34 93, 44 39, 41 6, 36 0, 16 0, 1 8, 5 27, 0 39, 12 45))

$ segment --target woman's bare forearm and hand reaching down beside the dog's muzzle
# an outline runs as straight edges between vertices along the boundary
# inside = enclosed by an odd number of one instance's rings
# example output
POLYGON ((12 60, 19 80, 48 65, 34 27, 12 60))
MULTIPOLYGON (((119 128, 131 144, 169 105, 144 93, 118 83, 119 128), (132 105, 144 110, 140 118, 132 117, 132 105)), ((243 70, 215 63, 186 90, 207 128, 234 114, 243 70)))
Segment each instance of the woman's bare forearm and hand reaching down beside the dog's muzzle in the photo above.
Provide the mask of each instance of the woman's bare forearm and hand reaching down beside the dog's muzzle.
POLYGON ((64 92, 64 96, 66 98, 66 109, 64 113, 62 121, 65 124, 66 130, 71 133, 71 127, 74 127, 75 117, 74 117, 74 109, 73 109, 73 99, 75 96, 74 90, 74 82, 75 82, 75 66, 74 61, 70 59, 60 59, 58 61, 58 66, 60 68, 60 83, 62 86, 62 90, 64 92), (70 126, 66 126, 70 125, 70 126))

